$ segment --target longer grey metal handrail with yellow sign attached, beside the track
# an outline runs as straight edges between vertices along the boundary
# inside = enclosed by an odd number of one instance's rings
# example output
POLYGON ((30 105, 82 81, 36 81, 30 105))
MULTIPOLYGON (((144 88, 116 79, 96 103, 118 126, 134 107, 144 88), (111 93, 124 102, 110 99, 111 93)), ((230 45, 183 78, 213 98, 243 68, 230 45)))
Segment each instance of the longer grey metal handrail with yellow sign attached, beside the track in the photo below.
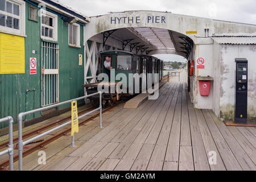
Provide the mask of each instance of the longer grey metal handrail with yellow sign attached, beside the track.
MULTIPOLYGON (((64 101, 64 102, 60 102, 58 104, 54 104, 54 105, 50 105, 50 106, 46 106, 46 107, 42 107, 42 108, 39 108, 39 109, 35 109, 35 110, 31 110, 31 111, 26 111, 24 113, 19 113, 18 115, 18 136, 19 136, 19 140, 18 140, 18 151, 19 151, 19 170, 22 171, 22 152, 23 152, 23 146, 28 144, 28 143, 31 143, 47 134, 50 134, 52 133, 53 131, 56 131, 58 129, 60 129, 61 127, 64 127, 64 126, 67 126, 69 124, 71 124, 71 121, 68 121, 60 126, 57 126, 55 127, 54 129, 51 129, 51 130, 48 130, 46 131, 45 133, 42 133, 34 138, 31 138, 31 139, 28 139, 26 141, 23 142, 22 140, 22 119, 24 116, 28 115, 28 114, 32 114, 32 113, 36 113, 38 111, 44 111, 44 110, 48 110, 48 109, 52 109, 53 107, 57 107, 57 106, 60 106, 60 105, 64 105, 64 104, 69 104, 73 101, 78 101, 78 100, 82 100, 82 99, 85 99, 87 97, 92 97, 92 96, 95 96, 97 94, 100 94, 100 106, 97 108, 97 109, 94 109, 92 111, 89 111, 88 113, 86 114, 83 114, 81 116, 78 117, 78 119, 81 119, 82 117, 85 117, 86 115, 89 115, 97 110, 100 110, 100 128, 102 128, 102 105, 101 105, 101 97, 102 97, 102 92, 97 92, 97 93, 93 93, 93 94, 89 94, 87 96, 83 96, 83 97, 79 97, 79 98, 75 98, 73 100, 69 100, 69 101, 64 101)), ((75 135, 72 136, 72 144, 71 144, 72 147, 75 146, 75 135)))

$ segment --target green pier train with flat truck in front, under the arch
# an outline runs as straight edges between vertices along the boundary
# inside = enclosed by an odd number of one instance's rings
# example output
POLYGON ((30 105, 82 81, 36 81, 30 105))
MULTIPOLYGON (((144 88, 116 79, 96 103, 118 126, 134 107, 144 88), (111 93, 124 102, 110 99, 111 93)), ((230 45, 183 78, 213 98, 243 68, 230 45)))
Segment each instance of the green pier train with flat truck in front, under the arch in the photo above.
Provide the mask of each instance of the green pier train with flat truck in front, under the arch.
MULTIPOLYGON (((123 82, 122 96, 131 96, 144 92, 146 89, 151 88, 156 82, 162 80, 163 61, 156 57, 137 55, 133 52, 120 50, 102 51, 98 54, 100 55, 100 63, 97 75, 99 73, 107 73, 104 66, 106 57, 110 58, 110 67, 112 67, 110 79, 102 76, 98 77, 98 81, 110 81, 112 83, 115 82, 115 84, 117 84, 117 82, 123 82), (137 86, 138 84, 139 87, 137 86)), ((98 84, 85 84, 83 86, 86 88, 88 94, 98 92, 98 84)), ((90 100, 92 101, 92 104, 96 106, 99 97, 93 96, 90 97, 90 100)), ((115 102, 117 100, 117 93, 110 93, 109 88, 108 93, 102 94, 102 100, 104 101, 104 105, 106 101, 111 105, 113 101, 115 102)))

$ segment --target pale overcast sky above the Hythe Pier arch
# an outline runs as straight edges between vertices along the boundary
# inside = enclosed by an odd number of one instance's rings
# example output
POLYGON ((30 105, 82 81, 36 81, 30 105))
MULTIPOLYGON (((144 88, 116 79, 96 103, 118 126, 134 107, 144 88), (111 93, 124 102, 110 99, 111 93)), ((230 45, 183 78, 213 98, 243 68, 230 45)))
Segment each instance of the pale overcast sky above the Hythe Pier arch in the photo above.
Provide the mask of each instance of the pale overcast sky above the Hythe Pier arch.
POLYGON ((59 2, 86 16, 106 14, 110 11, 154 10, 256 24, 255 0, 59 0, 59 2))

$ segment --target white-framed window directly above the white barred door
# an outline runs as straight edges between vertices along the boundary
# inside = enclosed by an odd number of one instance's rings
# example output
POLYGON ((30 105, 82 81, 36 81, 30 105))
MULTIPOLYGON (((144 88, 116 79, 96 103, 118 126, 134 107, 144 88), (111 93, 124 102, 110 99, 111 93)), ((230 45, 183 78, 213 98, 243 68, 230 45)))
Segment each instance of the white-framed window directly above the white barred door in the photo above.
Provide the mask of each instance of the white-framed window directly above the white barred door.
POLYGON ((41 37, 57 41, 57 15, 41 10, 41 37))

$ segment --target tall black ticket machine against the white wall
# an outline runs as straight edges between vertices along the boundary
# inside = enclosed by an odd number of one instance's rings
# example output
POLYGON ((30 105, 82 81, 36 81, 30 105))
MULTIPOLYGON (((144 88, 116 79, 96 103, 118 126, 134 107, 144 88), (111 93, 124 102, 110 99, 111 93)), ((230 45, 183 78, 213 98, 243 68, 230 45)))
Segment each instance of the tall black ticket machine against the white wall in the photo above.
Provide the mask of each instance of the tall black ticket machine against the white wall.
POLYGON ((236 96, 235 122, 247 123, 247 80, 248 61, 244 58, 236 59, 236 96))

